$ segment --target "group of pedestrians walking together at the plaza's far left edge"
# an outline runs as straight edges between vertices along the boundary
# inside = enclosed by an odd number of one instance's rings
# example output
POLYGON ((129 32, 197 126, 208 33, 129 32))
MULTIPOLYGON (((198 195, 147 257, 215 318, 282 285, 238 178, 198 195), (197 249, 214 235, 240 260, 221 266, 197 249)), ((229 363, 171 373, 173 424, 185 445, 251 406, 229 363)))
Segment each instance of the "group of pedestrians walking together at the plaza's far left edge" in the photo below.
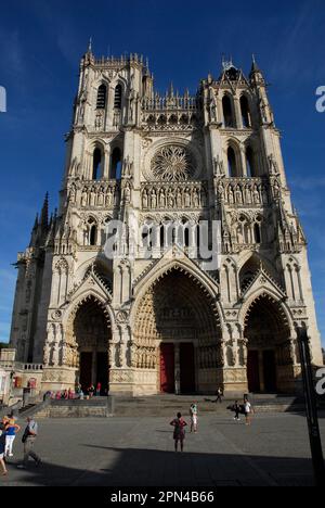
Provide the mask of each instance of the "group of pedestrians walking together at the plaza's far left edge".
MULTIPOLYGON (((0 423, 0 467, 1 474, 6 475, 6 460, 14 456, 13 445, 16 435, 21 432, 21 427, 16 423, 16 418, 13 414, 2 418, 0 423)), ((27 426, 22 436, 24 443, 24 460, 18 465, 18 469, 26 469, 28 459, 31 457, 37 466, 40 466, 41 459, 34 452, 35 442, 38 434, 38 424, 32 418, 27 418, 27 426)))

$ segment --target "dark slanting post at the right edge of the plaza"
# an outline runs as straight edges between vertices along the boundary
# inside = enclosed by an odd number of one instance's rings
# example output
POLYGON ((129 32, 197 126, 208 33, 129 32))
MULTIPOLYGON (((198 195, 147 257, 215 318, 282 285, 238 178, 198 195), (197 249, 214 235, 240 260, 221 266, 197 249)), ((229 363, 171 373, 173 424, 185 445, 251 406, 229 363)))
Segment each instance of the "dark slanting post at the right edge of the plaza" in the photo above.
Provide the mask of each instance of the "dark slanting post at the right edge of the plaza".
POLYGON ((296 330, 300 352, 306 412, 315 484, 316 486, 323 486, 325 482, 325 466, 318 426, 317 403, 311 365, 309 336, 306 328, 297 327, 296 330))

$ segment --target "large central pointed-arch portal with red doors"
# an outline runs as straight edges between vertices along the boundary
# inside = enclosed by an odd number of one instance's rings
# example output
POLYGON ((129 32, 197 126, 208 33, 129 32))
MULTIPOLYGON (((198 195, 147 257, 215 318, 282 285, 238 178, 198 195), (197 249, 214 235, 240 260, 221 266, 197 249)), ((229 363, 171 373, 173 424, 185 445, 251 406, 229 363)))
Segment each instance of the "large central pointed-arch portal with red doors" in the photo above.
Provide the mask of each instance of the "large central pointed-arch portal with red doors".
POLYGON ((155 370, 155 393, 216 391, 219 338, 219 315, 208 291, 184 269, 172 268, 140 302, 136 368, 155 370))

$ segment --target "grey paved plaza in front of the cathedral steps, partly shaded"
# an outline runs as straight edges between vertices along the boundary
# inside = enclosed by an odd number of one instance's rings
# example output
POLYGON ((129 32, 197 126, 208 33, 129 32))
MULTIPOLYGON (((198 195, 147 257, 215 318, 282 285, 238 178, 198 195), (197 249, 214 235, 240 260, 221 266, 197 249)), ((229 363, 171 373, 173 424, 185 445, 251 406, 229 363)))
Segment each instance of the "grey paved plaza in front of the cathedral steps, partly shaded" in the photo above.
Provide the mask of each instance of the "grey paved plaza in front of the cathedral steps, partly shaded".
MULTIPOLYGON (((325 418, 320 421, 325 443, 325 418)), ((173 452, 172 429, 161 417, 49 419, 39 424, 36 450, 42 466, 30 461, 26 471, 16 468, 23 453, 20 436, 1 486, 313 483, 307 422, 299 415, 257 415, 250 428, 226 412, 203 415, 199 432, 187 432, 183 454, 173 452)))

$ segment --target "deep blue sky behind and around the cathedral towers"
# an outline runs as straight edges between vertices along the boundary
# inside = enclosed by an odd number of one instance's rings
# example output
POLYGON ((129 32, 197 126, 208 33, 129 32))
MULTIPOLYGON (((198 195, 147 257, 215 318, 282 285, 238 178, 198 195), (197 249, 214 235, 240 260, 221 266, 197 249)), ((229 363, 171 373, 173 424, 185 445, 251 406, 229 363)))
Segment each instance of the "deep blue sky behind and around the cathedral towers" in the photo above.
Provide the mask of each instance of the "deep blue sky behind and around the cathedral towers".
MULTIPOLYGON (((325 339, 324 0, 14 0, 0 8, 0 341, 9 338, 17 251, 29 241, 43 195, 57 202, 78 65, 90 36, 98 55, 143 53, 156 88, 194 91, 222 53, 248 73, 256 53, 270 82, 294 202, 309 243, 318 325, 325 339)), ((324 343, 324 341, 323 341, 324 343)))

